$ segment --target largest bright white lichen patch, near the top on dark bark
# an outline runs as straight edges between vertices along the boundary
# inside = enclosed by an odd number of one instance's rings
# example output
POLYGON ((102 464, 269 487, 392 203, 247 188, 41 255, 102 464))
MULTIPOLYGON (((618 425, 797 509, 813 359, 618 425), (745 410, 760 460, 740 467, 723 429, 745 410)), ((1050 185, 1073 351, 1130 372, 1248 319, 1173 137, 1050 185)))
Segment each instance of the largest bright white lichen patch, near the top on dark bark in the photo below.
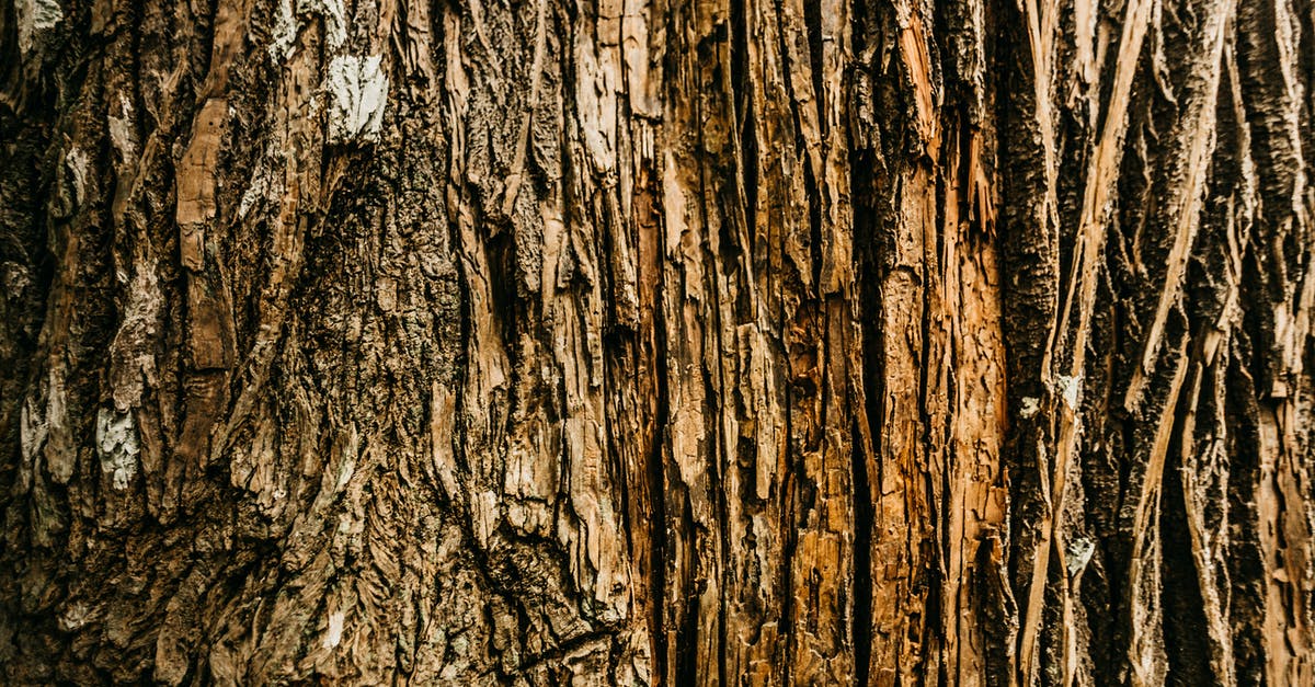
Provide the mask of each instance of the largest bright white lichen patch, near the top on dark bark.
POLYGON ((388 103, 388 76, 379 55, 338 55, 325 79, 329 95, 329 141, 377 141, 388 103))

